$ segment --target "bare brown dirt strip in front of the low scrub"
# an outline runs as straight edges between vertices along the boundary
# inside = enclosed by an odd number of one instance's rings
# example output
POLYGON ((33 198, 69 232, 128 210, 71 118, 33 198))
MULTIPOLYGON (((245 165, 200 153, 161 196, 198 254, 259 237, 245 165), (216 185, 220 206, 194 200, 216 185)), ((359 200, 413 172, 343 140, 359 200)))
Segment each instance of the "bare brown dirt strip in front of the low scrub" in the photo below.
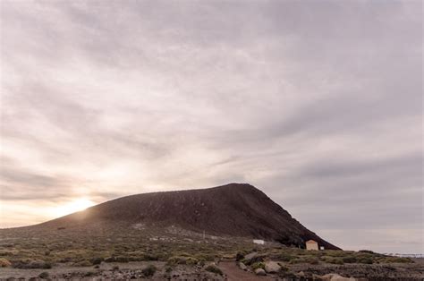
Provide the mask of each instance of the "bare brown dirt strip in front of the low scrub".
POLYGON ((128 262, 102 263, 98 268, 72 267, 58 265, 49 269, 19 269, 0 268, 0 280, 129 280, 145 279, 142 268, 154 265, 157 272, 150 280, 211 280, 211 281, 266 281, 266 280, 323 280, 318 276, 328 273, 338 273, 343 277, 355 277, 355 280, 365 281, 409 281, 424 280, 424 259, 415 259, 412 264, 399 264, 387 267, 386 265, 310 265, 296 264, 290 266, 293 277, 280 275, 256 276, 251 271, 243 271, 234 260, 225 260, 217 264, 223 275, 204 270, 204 267, 178 265, 170 271, 165 262, 128 262), (168 268, 168 270, 166 270, 168 268))

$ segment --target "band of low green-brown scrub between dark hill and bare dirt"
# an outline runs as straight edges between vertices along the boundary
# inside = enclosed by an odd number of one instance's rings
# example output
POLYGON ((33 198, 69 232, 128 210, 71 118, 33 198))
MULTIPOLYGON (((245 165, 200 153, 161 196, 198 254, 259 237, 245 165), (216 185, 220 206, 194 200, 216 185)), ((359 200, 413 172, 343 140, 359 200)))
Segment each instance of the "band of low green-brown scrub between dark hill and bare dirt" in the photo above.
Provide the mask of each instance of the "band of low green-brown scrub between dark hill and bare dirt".
MULTIPOLYGON (((267 260, 275 260, 290 268, 308 265, 371 265, 412 263, 408 258, 385 256, 373 251, 306 251, 278 243, 256 245, 242 238, 203 239, 200 234, 164 234, 162 231, 143 232, 99 229, 87 235, 77 229, 57 230, 51 234, 21 233, 19 239, 13 232, 2 235, 0 243, 1 268, 52 268, 65 264, 74 267, 99 267, 102 263, 128 263, 132 261, 160 261, 169 268, 198 267, 222 274, 219 268, 208 265, 214 260, 242 261, 251 269, 265 268, 267 260), (154 239, 152 239, 154 237, 154 239), (246 256, 256 252, 254 258, 246 256)), ((114 268, 119 268, 113 265, 114 268)), ((163 270, 165 272, 165 269, 163 270)), ((285 270, 284 270, 285 271, 285 270)), ((288 270, 286 270, 288 271, 288 270)), ((143 275, 155 275, 157 268, 148 266, 143 275)), ((287 273, 288 274, 288 273, 287 273)))

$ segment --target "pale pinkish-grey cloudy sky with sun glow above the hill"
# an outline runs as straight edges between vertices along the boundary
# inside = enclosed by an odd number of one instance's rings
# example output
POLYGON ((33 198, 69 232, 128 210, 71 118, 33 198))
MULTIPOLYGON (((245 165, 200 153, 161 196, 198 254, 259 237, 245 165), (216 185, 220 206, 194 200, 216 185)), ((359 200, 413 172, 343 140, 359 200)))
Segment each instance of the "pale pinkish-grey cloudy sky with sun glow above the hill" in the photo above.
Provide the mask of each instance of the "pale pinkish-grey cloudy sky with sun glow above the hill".
POLYGON ((0 227, 250 183, 345 250, 424 252, 421 1, 0 7, 0 227))

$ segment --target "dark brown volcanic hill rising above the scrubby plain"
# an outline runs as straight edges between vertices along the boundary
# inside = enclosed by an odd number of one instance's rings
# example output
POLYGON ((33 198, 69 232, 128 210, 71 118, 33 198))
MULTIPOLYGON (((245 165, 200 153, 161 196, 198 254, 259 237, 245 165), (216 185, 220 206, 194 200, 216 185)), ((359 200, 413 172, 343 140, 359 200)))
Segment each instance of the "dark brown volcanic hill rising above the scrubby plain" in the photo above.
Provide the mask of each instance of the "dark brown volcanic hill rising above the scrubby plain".
POLYGON ((131 195, 107 201, 83 213, 82 219, 81 214, 76 213, 38 226, 142 223, 292 245, 304 245, 305 241, 313 239, 326 249, 338 249, 302 226, 250 184, 231 183, 200 190, 131 195))

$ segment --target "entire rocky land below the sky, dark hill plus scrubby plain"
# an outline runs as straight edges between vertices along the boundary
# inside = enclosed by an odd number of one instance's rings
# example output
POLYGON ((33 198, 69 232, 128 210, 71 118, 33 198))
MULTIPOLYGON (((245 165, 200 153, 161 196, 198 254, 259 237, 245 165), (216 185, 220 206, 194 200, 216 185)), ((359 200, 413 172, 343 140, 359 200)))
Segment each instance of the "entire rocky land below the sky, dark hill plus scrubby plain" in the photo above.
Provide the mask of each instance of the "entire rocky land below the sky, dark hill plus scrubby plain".
POLYGON ((422 259, 339 250, 249 184, 134 195, 37 226, 0 230, 0 279, 423 277, 422 259), (302 249, 308 239, 326 250, 302 249))

